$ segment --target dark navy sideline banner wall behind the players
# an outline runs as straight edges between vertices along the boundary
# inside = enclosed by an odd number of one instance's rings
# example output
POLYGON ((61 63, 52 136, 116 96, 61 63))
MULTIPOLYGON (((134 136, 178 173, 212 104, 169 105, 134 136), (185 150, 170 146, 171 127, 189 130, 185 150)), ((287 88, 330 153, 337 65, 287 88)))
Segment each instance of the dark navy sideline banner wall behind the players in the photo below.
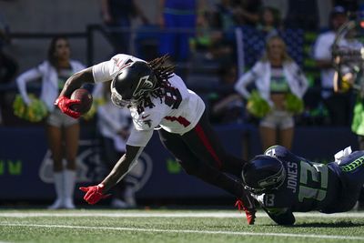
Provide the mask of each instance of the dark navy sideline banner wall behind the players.
MULTIPOLYGON (((256 127, 230 125, 216 130, 229 153, 242 157, 244 152, 248 158, 261 153, 256 127)), ((108 173, 94 135, 92 129, 83 128, 76 159, 77 186, 99 183, 108 173)), ((0 181, 4 185, 0 200, 55 198, 52 160, 44 128, 0 127, 0 137, 0 181)), ((337 151, 348 146, 357 149, 356 137, 349 127, 298 127, 292 150, 299 156, 328 162, 337 151)), ((161 145, 157 132, 129 175, 127 180, 134 185, 139 198, 231 197, 188 176, 161 145)), ((81 197, 82 193, 76 190, 76 198, 81 197)))

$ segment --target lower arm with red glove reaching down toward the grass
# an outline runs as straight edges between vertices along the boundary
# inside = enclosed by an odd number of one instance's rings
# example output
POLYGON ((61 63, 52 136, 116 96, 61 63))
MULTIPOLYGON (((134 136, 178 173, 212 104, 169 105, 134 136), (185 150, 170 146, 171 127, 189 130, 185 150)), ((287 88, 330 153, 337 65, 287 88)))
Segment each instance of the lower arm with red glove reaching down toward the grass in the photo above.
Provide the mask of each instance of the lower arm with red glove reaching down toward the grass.
POLYGON ((133 147, 126 145, 126 153, 116 163, 110 174, 97 186, 80 187, 86 192, 84 199, 89 204, 96 204, 99 200, 108 197, 106 191, 114 187, 126 174, 136 165, 137 157, 144 147, 133 147))

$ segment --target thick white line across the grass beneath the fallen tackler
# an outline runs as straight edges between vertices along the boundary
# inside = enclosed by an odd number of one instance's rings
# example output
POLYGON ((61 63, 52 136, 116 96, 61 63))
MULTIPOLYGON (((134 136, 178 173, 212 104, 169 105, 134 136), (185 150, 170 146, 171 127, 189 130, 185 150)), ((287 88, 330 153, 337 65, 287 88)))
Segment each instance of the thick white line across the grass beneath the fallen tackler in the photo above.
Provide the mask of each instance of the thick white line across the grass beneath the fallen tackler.
MULTIPOLYGON (((308 212, 308 213, 294 213, 296 218, 364 218, 364 212, 347 212, 337 214, 322 214, 319 212, 308 212)), ((231 212, 154 212, 154 211, 119 211, 115 212, 102 212, 102 211, 87 211, 87 210, 70 210, 70 211, 50 211, 50 212, 26 212, 26 211, 0 211, 0 218, 33 218, 33 217, 108 217, 108 218, 241 218, 245 217, 245 214, 241 214, 238 211, 231 212)), ((258 212, 257 217, 268 217, 264 212, 258 212)))

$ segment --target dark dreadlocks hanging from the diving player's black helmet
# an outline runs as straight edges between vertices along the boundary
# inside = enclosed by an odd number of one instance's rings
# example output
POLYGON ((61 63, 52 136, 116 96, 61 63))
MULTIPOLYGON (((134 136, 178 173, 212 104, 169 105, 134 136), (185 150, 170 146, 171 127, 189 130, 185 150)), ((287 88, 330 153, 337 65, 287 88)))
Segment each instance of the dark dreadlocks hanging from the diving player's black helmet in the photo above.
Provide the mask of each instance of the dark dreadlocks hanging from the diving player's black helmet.
POLYGON ((173 76, 176 66, 170 63, 168 55, 157 57, 147 64, 157 78, 156 89, 149 94, 153 97, 159 97, 162 102, 162 97, 165 96, 164 87, 170 86, 168 78, 173 76))

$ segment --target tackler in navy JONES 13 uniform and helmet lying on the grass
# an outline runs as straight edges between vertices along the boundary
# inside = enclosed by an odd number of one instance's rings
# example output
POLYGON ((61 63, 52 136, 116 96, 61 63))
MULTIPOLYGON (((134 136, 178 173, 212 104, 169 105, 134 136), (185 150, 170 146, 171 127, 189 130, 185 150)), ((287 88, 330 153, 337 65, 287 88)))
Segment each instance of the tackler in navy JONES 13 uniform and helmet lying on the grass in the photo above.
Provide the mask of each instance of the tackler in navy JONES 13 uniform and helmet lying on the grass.
POLYGON ((327 165, 308 161, 286 147, 269 147, 242 170, 243 184, 279 225, 292 225, 292 212, 349 211, 364 184, 364 151, 340 151, 327 165))

